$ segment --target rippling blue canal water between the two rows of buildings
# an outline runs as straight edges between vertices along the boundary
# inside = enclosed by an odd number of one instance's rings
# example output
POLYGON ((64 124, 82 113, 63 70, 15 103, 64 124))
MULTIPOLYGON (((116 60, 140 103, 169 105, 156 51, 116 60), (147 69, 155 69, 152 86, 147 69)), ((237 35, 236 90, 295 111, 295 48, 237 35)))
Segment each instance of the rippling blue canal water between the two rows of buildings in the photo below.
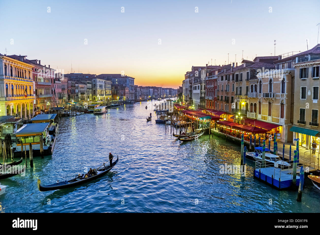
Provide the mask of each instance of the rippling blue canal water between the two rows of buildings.
POLYGON ((52 156, 36 157, 24 177, 1 180, 8 187, 0 212, 320 212, 319 191, 308 178, 300 203, 297 192, 254 179, 250 160, 245 177, 220 174, 221 165, 240 164, 240 146, 208 135, 182 143, 155 123, 153 108, 142 102, 62 118, 52 156), (44 185, 67 180, 108 162, 109 152, 119 162, 108 175, 38 191, 38 179, 44 185))

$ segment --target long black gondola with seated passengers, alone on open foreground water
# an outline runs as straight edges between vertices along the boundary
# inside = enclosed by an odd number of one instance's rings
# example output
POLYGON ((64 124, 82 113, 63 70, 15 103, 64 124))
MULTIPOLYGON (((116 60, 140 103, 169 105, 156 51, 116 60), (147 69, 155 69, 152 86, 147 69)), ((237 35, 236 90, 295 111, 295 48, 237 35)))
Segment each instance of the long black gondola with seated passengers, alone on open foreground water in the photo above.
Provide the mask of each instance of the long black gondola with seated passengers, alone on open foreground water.
POLYGON ((41 181, 40 179, 38 179, 39 191, 45 192, 45 191, 52 191, 52 190, 58 190, 58 189, 65 189, 65 188, 70 188, 79 184, 84 184, 86 182, 92 181, 94 179, 97 179, 107 174, 117 164, 118 161, 119 161, 119 157, 117 157, 117 160, 112 163, 112 167, 108 165, 101 169, 98 169, 96 175, 92 175, 87 178, 77 175, 73 179, 65 180, 56 184, 49 184, 49 185, 41 185, 41 181))

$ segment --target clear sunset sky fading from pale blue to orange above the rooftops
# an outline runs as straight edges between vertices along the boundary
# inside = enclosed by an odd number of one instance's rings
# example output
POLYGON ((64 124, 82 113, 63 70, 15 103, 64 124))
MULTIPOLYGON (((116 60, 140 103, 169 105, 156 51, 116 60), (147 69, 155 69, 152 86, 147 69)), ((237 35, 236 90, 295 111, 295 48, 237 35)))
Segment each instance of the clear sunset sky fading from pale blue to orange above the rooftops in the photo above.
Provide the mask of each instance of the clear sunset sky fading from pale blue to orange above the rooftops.
POLYGON ((274 55, 274 40, 276 55, 307 50, 306 39, 314 47, 318 6, 316 0, 1 1, 0 53, 6 48, 65 73, 72 63, 76 73, 124 71, 137 85, 177 88, 192 66, 228 63, 228 53, 229 63, 236 54, 240 64, 242 51, 249 60, 274 55))

